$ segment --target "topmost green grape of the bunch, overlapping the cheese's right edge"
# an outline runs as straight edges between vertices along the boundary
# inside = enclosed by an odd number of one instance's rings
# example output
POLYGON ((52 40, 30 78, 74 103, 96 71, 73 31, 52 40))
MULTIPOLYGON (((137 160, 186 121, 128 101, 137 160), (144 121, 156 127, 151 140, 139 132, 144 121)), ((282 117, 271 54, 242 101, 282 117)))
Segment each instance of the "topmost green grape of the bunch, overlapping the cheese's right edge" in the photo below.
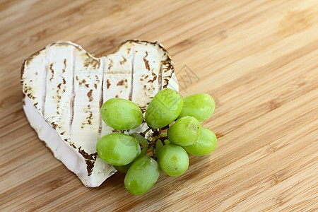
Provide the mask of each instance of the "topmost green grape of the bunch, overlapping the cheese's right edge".
POLYGON ((182 96, 175 90, 165 88, 151 100, 145 114, 149 126, 158 129, 173 122, 183 105, 182 96))

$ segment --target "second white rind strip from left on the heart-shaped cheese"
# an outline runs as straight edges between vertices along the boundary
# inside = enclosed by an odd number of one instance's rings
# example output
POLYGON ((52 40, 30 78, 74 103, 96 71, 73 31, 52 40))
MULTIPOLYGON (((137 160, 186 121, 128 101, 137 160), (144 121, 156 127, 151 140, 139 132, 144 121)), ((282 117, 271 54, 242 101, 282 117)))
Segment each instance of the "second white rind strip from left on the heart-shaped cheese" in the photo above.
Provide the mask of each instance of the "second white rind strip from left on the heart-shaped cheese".
MULTIPOLYGON (((69 117, 71 117, 71 96, 73 81, 73 45, 51 45, 47 47, 45 64, 44 117, 60 134, 61 139, 69 141, 69 117)), ((33 61, 30 62, 33 64, 33 61)))

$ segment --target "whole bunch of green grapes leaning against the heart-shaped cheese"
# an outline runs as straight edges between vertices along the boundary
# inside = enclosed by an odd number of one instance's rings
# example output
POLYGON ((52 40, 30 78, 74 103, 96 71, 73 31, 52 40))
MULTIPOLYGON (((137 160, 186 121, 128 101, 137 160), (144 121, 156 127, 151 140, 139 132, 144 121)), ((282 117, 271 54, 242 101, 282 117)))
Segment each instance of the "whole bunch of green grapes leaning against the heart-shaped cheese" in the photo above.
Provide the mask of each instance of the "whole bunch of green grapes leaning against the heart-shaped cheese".
POLYGON ((101 116, 108 126, 129 130, 146 122, 148 129, 140 134, 102 136, 96 146, 98 155, 119 172, 126 172, 124 185, 128 192, 144 194, 157 182, 160 170, 170 176, 182 175, 189 167, 188 153, 208 155, 216 148, 216 135, 200 124, 213 114, 215 105, 206 93, 182 98, 177 91, 166 88, 151 100, 143 121, 134 102, 107 100, 101 116), (149 130, 153 136, 146 139, 149 130))

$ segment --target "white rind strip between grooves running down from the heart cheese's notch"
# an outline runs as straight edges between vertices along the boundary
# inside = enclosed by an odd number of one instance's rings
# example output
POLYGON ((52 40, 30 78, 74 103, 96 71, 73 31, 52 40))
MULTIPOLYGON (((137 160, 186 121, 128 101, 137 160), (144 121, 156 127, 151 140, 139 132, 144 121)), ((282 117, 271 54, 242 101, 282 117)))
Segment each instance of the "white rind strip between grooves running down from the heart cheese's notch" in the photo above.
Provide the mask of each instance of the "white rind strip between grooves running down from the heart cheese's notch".
MULTIPOLYGON (((102 59, 88 57, 83 49, 76 49, 74 55, 71 142, 78 147, 78 151, 84 150, 90 155, 96 153, 96 143, 100 139, 100 96, 104 63, 102 59)), ((95 160, 95 157, 90 155, 86 160, 95 160)))

